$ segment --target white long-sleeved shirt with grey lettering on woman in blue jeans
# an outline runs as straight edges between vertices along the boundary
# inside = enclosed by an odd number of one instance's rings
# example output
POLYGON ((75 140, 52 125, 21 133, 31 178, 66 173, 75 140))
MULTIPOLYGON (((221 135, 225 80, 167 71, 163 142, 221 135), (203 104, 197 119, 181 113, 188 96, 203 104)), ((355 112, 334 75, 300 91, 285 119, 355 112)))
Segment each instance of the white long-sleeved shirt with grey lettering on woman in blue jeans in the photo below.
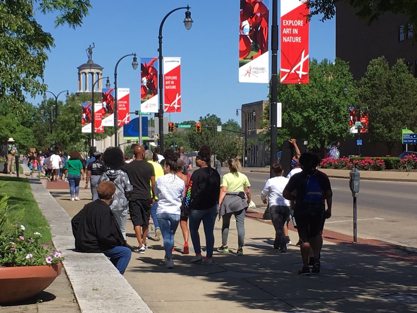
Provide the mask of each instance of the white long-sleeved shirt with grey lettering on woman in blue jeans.
POLYGON ((156 179, 155 195, 158 197, 156 214, 170 213, 181 215, 184 193, 184 181, 177 175, 166 174, 156 179))

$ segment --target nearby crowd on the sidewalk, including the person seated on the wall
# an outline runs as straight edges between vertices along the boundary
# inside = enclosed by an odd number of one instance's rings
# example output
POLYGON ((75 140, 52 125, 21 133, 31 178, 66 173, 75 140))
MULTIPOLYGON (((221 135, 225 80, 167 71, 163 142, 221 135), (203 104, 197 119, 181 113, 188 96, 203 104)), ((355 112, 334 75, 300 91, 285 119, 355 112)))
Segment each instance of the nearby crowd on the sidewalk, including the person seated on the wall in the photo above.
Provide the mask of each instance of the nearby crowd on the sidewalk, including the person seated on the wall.
MULTIPOLYGON (((68 169, 70 196, 71 200, 77 200, 85 166, 79 160, 78 152, 71 151, 69 156, 65 168, 68 169)), ((196 156, 198 169, 190 175, 191 162, 183 154, 182 147, 179 153, 168 149, 159 155, 137 145, 132 160, 119 147, 109 147, 103 155, 95 152, 94 160, 86 168, 85 182, 85 187, 90 184, 93 202, 85 205, 72 221, 76 249, 104 253, 123 274, 131 252, 143 254, 148 250, 146 240, 149 224, 153 221, 154 240, 163 238, 166 268, 174 267, 172 252, 178 226, 184 238, 182 253, 190 253, 188 238, 191 235, 195 252, 191 263, 211 265, 216 218, 222 219, 222 242, 216 250, 229 252, 229 227, 231 217, 234 217, 238 232, 236 255, 244 255, 245 214, 251 203, 249 179, 240 172, 238 159, 228 160, 229 173, 222 179, 211 167, 210 159, 210 147, 201 146, 196 156), (137 247, 126 242, 128 215, 137 247), (206 241, 205 256, 198 231, 201 224, 206 241), (104 225, 108 229, 99 230, 104 225)), ((275 250, 287 252, 286 245, 291 243, 287 225, 292 220, 298 230, 297 245, 300 245, 303 261, 303 268, 298 273, 310 275, 309 265, 313 273, 320 272, 321 232, 324 220, 331 216, 332 190, 327 176, 317 170, 319 159, 316 155, 297 153, 293 159, 296 166, 289 174, 290 178, 283 176, 281 164, 272 164, 275 177, 266 181, 261 200, 269 204, 276 233, 275 250)))

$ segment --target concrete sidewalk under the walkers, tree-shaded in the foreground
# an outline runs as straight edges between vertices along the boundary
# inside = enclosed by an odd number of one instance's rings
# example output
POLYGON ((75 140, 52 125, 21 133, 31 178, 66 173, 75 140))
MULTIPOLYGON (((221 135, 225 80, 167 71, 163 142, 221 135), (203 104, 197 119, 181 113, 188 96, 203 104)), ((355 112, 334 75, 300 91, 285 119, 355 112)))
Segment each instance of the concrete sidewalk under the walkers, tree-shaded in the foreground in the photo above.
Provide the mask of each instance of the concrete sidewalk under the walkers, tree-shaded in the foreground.
MULTIPOLYGON (((76 202, 69 201, 68 189, 49 191, 70 216, 90 201, 89 189, 81 188, 81 201, 76 202)), ((211 266, 191 264, 192 252, 181 254, 183 237, 178 229, 173 270, 163 265, 163 242, 148 240, 149 249, 132 255, 124 277, 153 312, 417 312, 417 266, 412 252, 398 250, 394 256, 393 245, 372 240, 353 245, 347 238, 344 244, 336 244, 332 241, 338 233, 325 232, 322 272, 297 275, 299 248, 292 245, 287 254, 275 252, 273 227, 256 220, 254 214, 249 212, 251 218, 245 220, 243 256, 236 255, 234 220, 228 242, 232 252, 214 252, 211 266)), ((126 229, 128 243, 137 245, 130 220, 126 229)), ((221 221, 216 221, 214 233, 217 247, 221 221)), ((297 241, 291 230, 290 237, 297 241)))

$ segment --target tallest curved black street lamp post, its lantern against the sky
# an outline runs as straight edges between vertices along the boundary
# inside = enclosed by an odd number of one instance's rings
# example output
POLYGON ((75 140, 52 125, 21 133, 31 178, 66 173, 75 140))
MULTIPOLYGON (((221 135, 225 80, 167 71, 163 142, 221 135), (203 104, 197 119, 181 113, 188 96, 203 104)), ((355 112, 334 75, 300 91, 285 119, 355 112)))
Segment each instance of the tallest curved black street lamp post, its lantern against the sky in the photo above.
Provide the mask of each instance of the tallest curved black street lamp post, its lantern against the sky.
POLYGON ((191 26, 193 26, 193 20, 191 19, 190 7, 188 5, 186 7, 173 9, 171 12, 165 15, 165 17, 162 19, 161 25, 159 25, 159 36, 158 36, 159 38, 159 48, 158 48, 158 52, 159 52, 159 56, 158 56, 158 60, 159 60, 159 112, 158 114, 155 114, 155 117, 158 116, 158 119, 159 119, 159 145, 161 146, 161 153, 163 153, 163 112, 164 112, 164 109, 163 109, 163 74, 162 74, 162 61, 163 61, 162 27, 163 27, 163 23, 165 23, 165 20, 168 18, 169 15, 171 15, 175 11, 183 10, 183 9, 187 9, 185 13, 185 18, 184 18, 184 26, 186 30, 190 30, 191 26))

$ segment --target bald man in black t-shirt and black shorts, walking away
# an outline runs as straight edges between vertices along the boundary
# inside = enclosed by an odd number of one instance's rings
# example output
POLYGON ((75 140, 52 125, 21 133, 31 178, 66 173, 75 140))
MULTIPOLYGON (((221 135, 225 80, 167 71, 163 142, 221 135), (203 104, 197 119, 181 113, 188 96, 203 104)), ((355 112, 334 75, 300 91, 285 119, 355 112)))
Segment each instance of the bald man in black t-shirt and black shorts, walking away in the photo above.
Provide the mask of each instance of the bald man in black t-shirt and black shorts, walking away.
POLYGON ((143 146, 135 146, 133 153, 135 159, 128 164, 125 163, 126 172, 133 186, 129 199, 129 214, 139 243, 134 251, 145 253, 148 249, 146 235, 148 235, 151 206, 155 203, 155 171, 153 166, 145 160, 143 146))

